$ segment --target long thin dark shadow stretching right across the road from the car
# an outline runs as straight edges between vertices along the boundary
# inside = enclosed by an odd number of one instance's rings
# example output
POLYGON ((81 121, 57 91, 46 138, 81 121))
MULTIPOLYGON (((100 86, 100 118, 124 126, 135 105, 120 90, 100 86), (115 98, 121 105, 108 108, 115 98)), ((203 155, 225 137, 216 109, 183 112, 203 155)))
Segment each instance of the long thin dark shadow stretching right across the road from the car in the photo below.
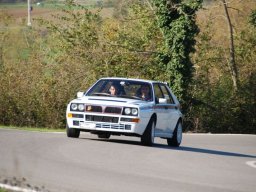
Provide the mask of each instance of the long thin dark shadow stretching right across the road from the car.
POLYGON ((228 152, 228 151, 220 151, 220 150, 213 150, 213 149, 204 149, 204 148, 197 148, 197 147, 188 147, 188 146, 170 147, 170 146, 165 146, 162 144, 155 144, 155 147, 161 148, 161 149, 187 151, 187 152, 194 152, 194 153, 204 153, 204 154, 220 155, 220 156, 256 158, 256 155, 249 155, 249 154, 235 153, 235 152, 228 152))

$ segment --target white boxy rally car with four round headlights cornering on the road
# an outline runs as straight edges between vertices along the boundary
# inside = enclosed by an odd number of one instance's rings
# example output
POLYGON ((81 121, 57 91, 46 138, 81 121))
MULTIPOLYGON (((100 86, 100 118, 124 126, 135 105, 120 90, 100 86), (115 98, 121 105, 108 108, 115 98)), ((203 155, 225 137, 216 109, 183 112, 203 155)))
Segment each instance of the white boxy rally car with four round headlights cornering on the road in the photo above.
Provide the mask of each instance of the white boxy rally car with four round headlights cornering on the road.
POLYGON ((151 146, 155 137, 170 146, 182 141, 180 104, 166 83, 141 79, 102 78, 88 91, 78 92, 67 106, 67 136, 80 131, 97 134, 139 136, 151 146))

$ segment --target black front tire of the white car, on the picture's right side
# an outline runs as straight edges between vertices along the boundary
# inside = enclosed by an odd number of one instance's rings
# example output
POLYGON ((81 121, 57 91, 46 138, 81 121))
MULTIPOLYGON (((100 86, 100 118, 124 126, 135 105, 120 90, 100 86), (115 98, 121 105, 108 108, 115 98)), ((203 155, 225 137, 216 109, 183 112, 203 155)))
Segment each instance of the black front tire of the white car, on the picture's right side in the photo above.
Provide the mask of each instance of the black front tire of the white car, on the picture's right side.
POLYGON ((141 143, 145 146, 152 146, 155 138, 155 121, 151 119, 147 125, 146 130, 141 136, 141 143))

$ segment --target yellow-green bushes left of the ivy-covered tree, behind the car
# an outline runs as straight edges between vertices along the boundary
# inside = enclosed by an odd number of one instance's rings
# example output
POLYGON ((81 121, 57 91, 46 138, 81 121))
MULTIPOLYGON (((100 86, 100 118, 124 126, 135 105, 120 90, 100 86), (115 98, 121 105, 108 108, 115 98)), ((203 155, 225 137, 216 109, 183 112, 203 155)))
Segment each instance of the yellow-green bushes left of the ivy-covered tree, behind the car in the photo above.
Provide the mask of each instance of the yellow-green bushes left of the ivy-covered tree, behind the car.
POLYGON ((144 18, 148 13, 143 4, 129 9, 131 23, 103 21, 99 13, 68 1, 61 13, 37 19, 40 27, 21 27, 10 35, 17 39, 17 49, 5 39, 4 49, 14 49, 14 60, 5 52, 8 62, 0 77, 6 82, 0 86, 2 124, 64 127, 66 104, 98 78, 148 77, 152 69, 144 63, 151 66, 154 61, 147 50, 157 43, 150 42, 156 33, 148 31, 153 22, 144 18), (134 27, 140 30, 133 33, 134 27))

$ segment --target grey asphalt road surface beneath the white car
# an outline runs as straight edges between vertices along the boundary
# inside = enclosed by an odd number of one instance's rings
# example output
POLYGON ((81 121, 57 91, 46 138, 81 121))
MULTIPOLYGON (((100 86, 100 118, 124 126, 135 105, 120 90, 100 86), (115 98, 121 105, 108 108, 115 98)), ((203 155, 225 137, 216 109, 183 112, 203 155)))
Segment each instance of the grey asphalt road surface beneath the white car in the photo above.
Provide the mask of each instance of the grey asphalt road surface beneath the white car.
POLYGON ((255 192, 256 136, 157 139, 0 129, 0 183, 51 192, 255 192), (249 162, 249 163, 248 163, 249 162), (251 164, 251 165, 248 165, 251 164))

